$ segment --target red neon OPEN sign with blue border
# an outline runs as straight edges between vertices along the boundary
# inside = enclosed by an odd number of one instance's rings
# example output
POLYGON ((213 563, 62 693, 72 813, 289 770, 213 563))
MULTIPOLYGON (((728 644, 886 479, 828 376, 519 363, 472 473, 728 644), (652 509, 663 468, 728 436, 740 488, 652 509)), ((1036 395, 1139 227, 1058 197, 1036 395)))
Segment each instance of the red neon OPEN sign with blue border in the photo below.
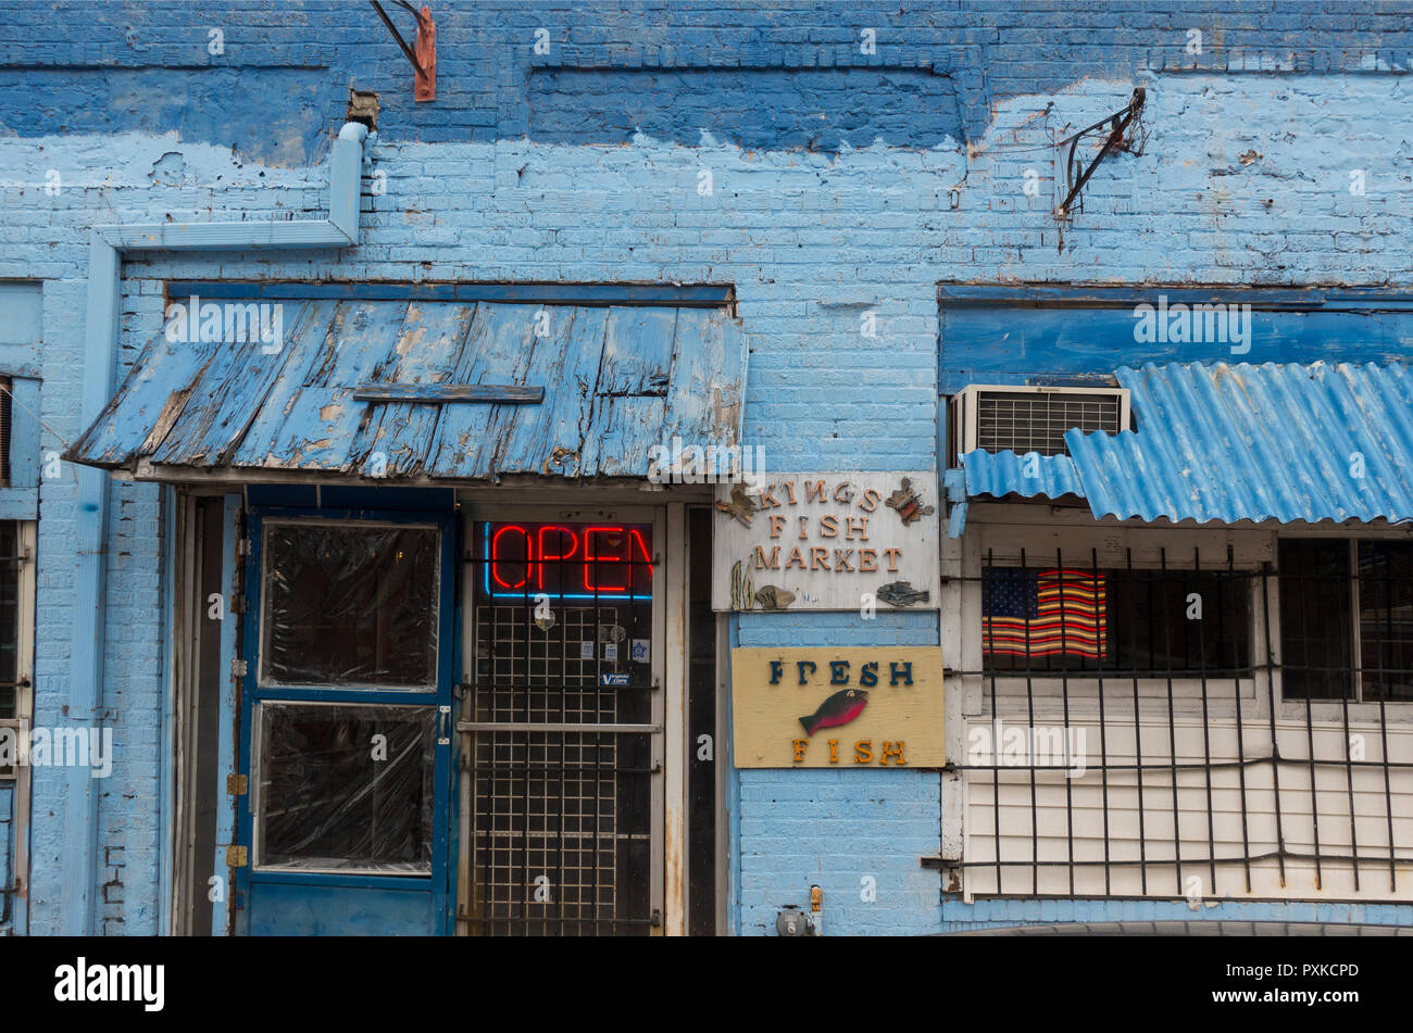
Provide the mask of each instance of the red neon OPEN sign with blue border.
POLYGON ((647 524, 482 524, 480 590, 490 598, 647 600, 647 524))

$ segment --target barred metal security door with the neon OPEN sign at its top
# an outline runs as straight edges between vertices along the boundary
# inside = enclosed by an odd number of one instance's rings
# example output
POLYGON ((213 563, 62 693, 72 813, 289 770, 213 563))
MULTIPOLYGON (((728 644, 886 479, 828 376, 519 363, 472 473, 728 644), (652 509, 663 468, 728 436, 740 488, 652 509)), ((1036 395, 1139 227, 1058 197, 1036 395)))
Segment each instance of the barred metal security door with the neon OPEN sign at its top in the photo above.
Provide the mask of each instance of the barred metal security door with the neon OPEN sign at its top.
POLYGON ((654 529, 651 518, 472 521, 458 720, 461 934, 633 936, 660 926, 654 529))

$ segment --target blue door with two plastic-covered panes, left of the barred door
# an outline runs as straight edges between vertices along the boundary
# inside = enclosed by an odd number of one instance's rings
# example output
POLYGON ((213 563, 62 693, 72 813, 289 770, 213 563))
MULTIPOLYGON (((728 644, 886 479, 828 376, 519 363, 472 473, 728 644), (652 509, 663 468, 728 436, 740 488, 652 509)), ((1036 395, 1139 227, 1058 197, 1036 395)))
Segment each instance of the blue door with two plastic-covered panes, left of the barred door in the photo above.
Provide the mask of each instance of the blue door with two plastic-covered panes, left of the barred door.
POLYGON ((455 535, 448 512, 252 509, 237 931, 449 931, 455 535))

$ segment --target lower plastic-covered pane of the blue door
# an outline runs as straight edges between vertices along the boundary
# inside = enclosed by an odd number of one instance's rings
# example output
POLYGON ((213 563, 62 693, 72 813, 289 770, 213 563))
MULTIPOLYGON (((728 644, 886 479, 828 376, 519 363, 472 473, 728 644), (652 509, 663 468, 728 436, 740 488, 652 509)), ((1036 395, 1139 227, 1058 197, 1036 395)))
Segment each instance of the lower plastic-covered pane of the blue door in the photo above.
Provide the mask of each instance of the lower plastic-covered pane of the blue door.
POLYGON ((263 703, 263 869, 430 875, 435 707, 263 703))

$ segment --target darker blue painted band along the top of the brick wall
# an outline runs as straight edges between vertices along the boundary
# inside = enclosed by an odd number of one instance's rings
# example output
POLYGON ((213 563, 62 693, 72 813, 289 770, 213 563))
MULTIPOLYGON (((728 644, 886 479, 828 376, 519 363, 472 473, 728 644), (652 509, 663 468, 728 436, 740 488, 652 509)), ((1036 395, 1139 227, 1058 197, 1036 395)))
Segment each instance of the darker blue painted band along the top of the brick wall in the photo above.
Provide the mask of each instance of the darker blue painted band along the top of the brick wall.
MULTIPOLYGON (((872 68, 879 86, 851 76, 851 86, 856 78, 862 89, 829 86, 827 96, 808 97, 827 113, 828 131, 818 145, 852 143, 866 126, 877 126, 889 143, 930 145, 938 119, 959 111, 966 138, 976 138, 996 100, 1051 93, 1084 78, 1123 79, 1142 69, 1225 72, 1262 61, 1330 72, 1355 68, 1366 56, 1406 66, 1413 51, 1403 35, 1406 3, 1369 11, 1318 0, 1163 0, 1118 8, 1057 0, 848 8, 828 0, 709 6, 461 0, 437 4, 434 17, 439 96, 437 104, 418 106, 411 66, 363 4, 6 0, 0 126, 23 135, 179 128, 188 141, 235 145, 252 158, 294 165, 326 148, 329 111, 353 83, 382 93, 389 127, 408 140, 517 138, 538 124, 545 138, 617 143, 625 140, 625 119, 639 110, 650 126, 670 126, 666 135, 675 140, 695 143, 698 130, 725 123, 738 131, 735 143, 747 144, 760 126, 779 124, 774 113, 749 120, 723 110, 750 110, 755 87, 722 75, 709 103, 694 111, 674 103, 681 100, 677 76, 743 66, 803 73, 872 68), (1197 55, 1188 52, 1193 28, 1204 34, 1197 55), (536 51, 537 30, 545 34, 547 54, 536 51), (872 54, 861 47, 863 30, 873 30, 872 54), (220 54, 211 52, 215 31, 222 32, 220 54), (536 103, 545 100, 545 80, 531 69, 564 69, 574 78, 572 69, 589 68, 609 72, 603 87, 589 86, 591 92, 616 95, 623 106, 591 102, 578 120, 572 106, 555 107, 548 121, 537 121, 547 116, 536 103), (945 76, 940 90, 951 103, 931 109, 918 97, 880 96, 889 69, 920 68, 945 76), (644 80, 653 69, 670 75, 644 80), (222 103, 249 96, 254 72, 260 103, 222 103)), ((411 38, 411 18, 394 11, 394 20, 411 38)), ((555 80, 551 73, 548 82, 555 80)), ((910 89, 904 83, 901 92, 910 89)), ((794 86, 784 87, 783 96, 794 95, 794 86)))

